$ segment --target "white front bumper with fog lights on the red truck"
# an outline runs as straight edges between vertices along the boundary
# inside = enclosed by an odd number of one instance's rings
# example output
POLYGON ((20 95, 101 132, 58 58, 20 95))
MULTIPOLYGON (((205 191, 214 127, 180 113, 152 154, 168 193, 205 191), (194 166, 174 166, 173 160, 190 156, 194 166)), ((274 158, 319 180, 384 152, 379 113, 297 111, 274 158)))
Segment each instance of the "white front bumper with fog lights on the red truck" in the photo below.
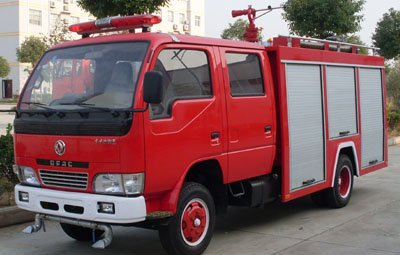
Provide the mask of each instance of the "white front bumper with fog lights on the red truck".
POLYGON ((146 202, 143 196, 106 196, 35 188, 18 184, 15 186, 15 201, 17 206, 24 210, 87 221, 126 224, 146 219, 146 202), (19 200, 20 191, 29 194, 29 202, 19 200), (114 203, 115 213, 98 212, 99 202, 114 203), (53 205, 51 209, 44 206, 49 203, 53 205), (79 207, 83 209, 83 212, 82 210, 78 213, 68 211, 68 208, 71 207, 79 207))

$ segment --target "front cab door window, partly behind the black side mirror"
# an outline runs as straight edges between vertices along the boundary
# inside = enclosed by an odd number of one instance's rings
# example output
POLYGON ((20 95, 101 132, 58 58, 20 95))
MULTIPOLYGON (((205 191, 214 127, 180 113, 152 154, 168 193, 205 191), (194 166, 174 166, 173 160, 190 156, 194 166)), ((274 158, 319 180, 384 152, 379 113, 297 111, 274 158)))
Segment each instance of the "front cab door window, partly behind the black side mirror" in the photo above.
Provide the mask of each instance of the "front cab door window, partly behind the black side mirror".
POLYGON ((170 117, 176 100, 212 96, 210 68, 204 51, 165 49, 158 55, 154 70, 163 74, 164 98, 160 104, 151 105, 152 119, 170 117))

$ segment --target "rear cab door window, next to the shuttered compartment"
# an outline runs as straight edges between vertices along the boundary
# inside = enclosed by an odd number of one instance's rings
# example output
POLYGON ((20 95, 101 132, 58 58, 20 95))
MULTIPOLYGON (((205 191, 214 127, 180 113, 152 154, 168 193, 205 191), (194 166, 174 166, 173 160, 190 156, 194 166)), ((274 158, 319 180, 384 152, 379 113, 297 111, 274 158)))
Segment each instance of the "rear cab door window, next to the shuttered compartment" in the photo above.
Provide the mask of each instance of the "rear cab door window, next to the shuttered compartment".
POLYGON ((256 54, 226 53, 231 96, 262 96, 264 85, 256 54))

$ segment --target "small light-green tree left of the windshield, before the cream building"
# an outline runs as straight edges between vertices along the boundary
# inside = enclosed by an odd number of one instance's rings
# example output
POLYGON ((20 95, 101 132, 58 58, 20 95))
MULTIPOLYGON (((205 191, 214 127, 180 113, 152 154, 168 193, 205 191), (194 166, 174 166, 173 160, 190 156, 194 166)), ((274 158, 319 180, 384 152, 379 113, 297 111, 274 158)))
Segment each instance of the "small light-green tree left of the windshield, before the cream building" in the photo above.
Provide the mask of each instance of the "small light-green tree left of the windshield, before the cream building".
POLYGON ((21 63, 30 63, 34 67, 47 48, 43 38, 30 36, 17 48, 17 59, 21 63))

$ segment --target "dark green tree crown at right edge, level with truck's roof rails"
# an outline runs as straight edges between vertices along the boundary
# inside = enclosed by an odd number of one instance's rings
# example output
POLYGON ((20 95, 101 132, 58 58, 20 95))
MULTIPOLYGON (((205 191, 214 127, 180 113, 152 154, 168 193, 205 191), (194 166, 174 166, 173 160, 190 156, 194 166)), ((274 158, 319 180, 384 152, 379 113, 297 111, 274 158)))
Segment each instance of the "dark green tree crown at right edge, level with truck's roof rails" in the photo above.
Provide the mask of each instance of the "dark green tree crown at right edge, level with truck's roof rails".
POLYGON ((385 58, 400 57, 400 11, 391 8, 388 13, 383 14, 372 40, 385 58))

